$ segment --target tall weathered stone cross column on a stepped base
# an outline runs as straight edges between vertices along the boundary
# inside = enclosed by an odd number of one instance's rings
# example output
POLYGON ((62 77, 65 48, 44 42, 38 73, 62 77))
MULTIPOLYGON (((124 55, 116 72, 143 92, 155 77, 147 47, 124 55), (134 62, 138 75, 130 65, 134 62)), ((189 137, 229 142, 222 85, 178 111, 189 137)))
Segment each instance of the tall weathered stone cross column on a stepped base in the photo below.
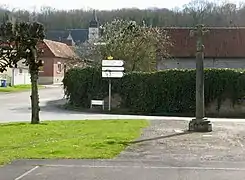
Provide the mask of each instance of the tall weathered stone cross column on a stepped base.
POLYGON ((189 131, 211 132, 212 124, 205 116, 204 105, 204 44, 203 37, 208 32, 204 25, 197 25, 195 30, 191 30, 191 35, 197 37, 196 42, 196 118, 189 123, 189 131))

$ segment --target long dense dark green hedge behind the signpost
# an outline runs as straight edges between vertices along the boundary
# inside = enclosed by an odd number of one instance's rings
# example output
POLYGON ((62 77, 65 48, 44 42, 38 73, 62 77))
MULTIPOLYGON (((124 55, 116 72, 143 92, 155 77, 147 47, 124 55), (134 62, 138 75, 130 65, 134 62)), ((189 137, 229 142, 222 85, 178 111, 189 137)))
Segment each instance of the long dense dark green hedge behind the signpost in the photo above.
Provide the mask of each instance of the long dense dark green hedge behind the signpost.
MULTIPOLYGON (((237 102, 245 94, 245 73, 231 69, 205 70, 205 103, 230 98, 237 102)), ((74 106, 88 108, 91 99, 108 95, 108 82, 100 69, 75 68, 65 74, 65 94, 74 106)), ((112 80, 112 92, 120 94, 122 108, 132 112, 194 113, 195 70, 135 72, 112 80)))

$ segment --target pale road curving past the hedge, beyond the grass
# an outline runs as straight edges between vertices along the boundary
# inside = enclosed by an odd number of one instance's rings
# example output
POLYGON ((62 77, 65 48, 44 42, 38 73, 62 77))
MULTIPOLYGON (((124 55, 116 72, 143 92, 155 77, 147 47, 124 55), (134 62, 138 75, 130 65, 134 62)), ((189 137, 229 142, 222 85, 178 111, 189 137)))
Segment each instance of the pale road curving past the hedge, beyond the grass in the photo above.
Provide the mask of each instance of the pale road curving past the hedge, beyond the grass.
MULTIPOLYGON (((48 87, 39 91, 41 120, 93 120, 93 119, 150 119, 150 120, 191 120, 191 117, 155 117, 133 115, 91 114, 63 110, 57 103, 64 103, 61 86, 48 87)), ((0 93, 0 123, 30 121, 30 92, 0 93)), ((245 119, 210 119, 211 121, 245 122, 245 119)))

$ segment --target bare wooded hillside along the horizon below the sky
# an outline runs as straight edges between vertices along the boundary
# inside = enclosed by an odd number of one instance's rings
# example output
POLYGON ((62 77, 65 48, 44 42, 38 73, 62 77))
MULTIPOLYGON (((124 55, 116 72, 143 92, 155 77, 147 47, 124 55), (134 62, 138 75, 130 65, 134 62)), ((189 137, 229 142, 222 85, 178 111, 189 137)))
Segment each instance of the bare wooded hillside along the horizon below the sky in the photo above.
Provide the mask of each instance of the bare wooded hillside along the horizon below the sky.
MULTIPOLYGON (((4 6, 0 8, 0 21, 3 20, 4 6)), ((75 28, 88 28, 92 18, 92 10, 55 10, 43 7, 40 12, 25 10, 11 11, 15 18, 24 21, 37 20, 44 24, 48 30, 63 30, 75 28)), ((194 26, 203 23, 207 26, 245 26, 245 4, 237 6, 232 3, 216 4, 205 0, 193 0, 181 9, 118 9, 111 11, 97 11, 101 24, 110 22, 115 18, 134 20, 145 23, 147 26, 194 26)))

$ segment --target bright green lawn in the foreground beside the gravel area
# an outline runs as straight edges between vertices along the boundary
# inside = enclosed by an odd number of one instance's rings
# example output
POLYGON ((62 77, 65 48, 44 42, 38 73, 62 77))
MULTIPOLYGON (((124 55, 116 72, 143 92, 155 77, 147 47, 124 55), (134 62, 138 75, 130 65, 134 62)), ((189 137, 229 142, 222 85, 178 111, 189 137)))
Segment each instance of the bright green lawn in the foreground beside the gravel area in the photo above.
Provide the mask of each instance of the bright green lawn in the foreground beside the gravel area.
POLYGON ((140 136, 145 120, 0 124, 0 165, 15 159, 108 159, 140 136))

